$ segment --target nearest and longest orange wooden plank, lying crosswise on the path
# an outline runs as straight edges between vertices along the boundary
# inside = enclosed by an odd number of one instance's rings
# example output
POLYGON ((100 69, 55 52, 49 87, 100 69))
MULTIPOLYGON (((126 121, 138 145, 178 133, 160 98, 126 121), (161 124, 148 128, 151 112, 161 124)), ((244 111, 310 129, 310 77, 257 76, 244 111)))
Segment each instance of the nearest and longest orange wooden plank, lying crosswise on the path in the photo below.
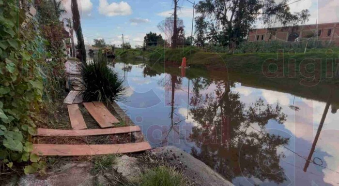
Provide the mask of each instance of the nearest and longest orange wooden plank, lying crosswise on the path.
POLYGON ((122 154, 150 150, 148 142, 123 144, 33 144, 33 154, 40 156, 86 156, 122 154))

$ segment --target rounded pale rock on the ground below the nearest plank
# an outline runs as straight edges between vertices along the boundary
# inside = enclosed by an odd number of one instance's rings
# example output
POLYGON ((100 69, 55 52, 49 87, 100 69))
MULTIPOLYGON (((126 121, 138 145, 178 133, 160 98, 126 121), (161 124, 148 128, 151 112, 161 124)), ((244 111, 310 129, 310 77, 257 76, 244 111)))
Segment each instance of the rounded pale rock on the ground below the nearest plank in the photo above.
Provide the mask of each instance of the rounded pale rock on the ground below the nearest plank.
POLYGON ((120 173, 123 178, 131 182, 138 179, 141 173, 138 159, 135 157, 128 157, 126 155, 118 157, 113 168, 120 173))

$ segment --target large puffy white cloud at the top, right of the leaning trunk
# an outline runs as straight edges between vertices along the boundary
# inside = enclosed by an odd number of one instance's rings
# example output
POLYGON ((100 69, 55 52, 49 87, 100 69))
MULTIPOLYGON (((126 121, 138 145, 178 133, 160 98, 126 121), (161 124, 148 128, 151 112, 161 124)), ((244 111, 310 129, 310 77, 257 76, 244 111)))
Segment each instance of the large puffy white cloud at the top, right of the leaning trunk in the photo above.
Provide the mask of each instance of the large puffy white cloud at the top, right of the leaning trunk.
POLYGON ((112 2, 108 4, 107 0, 99 0, 99 13, 106 16, 116 16, 116 15, 130 15, 132 14, 131 6, 124 1, 119 3, 112 2))

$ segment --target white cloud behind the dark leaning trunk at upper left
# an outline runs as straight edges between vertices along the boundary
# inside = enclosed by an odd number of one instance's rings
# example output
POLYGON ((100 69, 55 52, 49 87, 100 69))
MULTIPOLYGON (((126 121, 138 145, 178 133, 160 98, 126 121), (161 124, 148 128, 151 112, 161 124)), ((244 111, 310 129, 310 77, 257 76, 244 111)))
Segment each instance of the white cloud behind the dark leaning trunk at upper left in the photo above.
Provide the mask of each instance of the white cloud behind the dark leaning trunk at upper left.
MULTIPOLYGON (((71 4, 71 0, 62 0, 62 5, 67 12, 64 17, 72 17, 71 4)), ((92 15, 93 3, 91 0, 77 0, 77 5, 79 7, 80 17, 92 15)))

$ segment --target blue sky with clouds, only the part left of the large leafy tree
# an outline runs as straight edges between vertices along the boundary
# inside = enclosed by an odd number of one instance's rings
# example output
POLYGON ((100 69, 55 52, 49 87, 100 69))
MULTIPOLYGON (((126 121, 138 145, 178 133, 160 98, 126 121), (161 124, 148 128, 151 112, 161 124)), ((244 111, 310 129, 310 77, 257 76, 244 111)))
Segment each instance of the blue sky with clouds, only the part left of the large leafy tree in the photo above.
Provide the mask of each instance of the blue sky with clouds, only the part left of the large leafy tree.
MULTIPOLYGON (((104 38, 106 43, 121 44, 130 42, 134 47, 142 44, 143 37, 150 31, 161 33, 157 24, 170 16, 171 0, 78 0, 81 6, 81 26, 86 43, 95 38, 104 38)), ((191 33, 192 5, 181 0, 179 17, 184 20, 186 35, 191 33)), ((70 2, 64 0, 67 14, 70 14, 70 2)), ((67 15, 66 15, 67 16, 67 15)), ((163 38, 164 34, 161 34, 163 38)))

